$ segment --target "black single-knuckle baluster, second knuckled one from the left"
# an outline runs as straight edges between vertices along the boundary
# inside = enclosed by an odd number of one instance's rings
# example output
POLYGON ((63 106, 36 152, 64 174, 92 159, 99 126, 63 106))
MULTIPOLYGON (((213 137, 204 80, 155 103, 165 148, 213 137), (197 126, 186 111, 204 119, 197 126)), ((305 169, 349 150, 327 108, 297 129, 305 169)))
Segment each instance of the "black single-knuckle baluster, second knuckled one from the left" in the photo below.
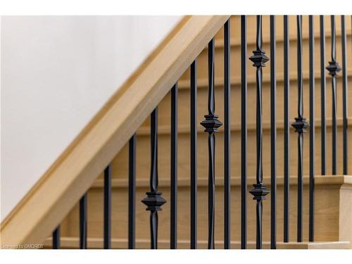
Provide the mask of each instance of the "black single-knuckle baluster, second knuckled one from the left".
POLYGON ((215 225, 215 132, 222 122, 215 115, 215 91, 214 91, 214 55, 215 43, 211 39, 208 44, 208 115, 204 115, 205 120, 201 125, 205 127, 204 132, 208 132, 208 249, 214 249, 214 225, 215 225))

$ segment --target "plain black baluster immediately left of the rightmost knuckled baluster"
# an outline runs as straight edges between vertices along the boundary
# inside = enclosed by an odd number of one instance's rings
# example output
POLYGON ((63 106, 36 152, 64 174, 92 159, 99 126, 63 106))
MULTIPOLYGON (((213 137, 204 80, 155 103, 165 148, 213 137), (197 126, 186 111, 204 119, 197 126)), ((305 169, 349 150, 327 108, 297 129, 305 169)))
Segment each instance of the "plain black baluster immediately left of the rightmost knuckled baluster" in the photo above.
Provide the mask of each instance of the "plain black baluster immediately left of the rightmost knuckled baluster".
POLYGON ((322 118, 321 125, 321 159, 322 159, 322 175, 325 175, 325 167, 326 167, 326 144, 327 144, 327 126, 325 123, 326 120, 326 77, 325 77, 325 29, 324 29, 324 15, 320 15, 320 111, 322 118))

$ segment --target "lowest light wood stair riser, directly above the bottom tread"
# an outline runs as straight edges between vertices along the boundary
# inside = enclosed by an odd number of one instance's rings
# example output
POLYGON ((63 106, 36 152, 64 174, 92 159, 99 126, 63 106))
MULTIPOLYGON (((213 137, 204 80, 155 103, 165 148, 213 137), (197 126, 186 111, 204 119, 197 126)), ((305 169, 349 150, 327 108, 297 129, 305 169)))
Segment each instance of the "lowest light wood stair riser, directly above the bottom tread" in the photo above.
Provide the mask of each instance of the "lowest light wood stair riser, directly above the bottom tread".
MULTIPOLYGON (((338 176, 337 176, 338 177, 338 176)), ((254 180, 253 177, 249 179, 254 180)), ((268 180, 267 180, 268 181, 268 180)), ((206 180, 203 180, 206 182, 206 180)), ((235 182, 233 180, 233 182, 235 182)), ((238 182, 238 181, 237 181, 238 182)), ((282 180, 280 181, 282 182, 282 180)), ((296 180, 291 180, 290 192, 290 236, 296 241, 296 180)), ((303 240, 308 240, 308 178, 305 179, 303 194, 303 240)), ((149 212, 140 201, 149 191, 148 184, 137 187, 136 196, 136 238, 149 239, 149 212)), ((315 186, 315 241, 338 241, 339 237, 339 188, 340 184, 317 184, 315 186)), ((251 186, 249 186, 251 188, 251 186)), ((268 186, 270 188, 270 186, 268 186)), ((161 186, 163 197, 170 201, 170 187, 161 186)), ((215 240, 223 238, 223 186, 218 184, 215 192, 215 240)), ((112 237, 127 239, 127 187, 113 188, 112 194, 112 237)), ((182 185, 178 192, 178 238, 189 239, 189 186, 182 185)), ((277 187, 277 241, 283 237, 283 192, 282 184, 277 187)), ((263 240, 270 240, 270 195, 263 202, 263 240)), ((239 184, 232 185, 231 196, 232 240, 240 240, 240 189, 239 184)), ((256 201, 248 195, 248 239, 256 239, 256 201)), ((158 213, 158 238, 170 237, 170 202, 165 203, 158 213)), ((88 193, 88 237, 102 237, 103 234, 103 189, 92 188, 88 193)), ((63 237, 78 236, 78 207, 68 215, 69 229, 63 231, 63 237)), ((201 184, 198 188, 198 239, 206 240, 208 235, 208 187, 201 184)))

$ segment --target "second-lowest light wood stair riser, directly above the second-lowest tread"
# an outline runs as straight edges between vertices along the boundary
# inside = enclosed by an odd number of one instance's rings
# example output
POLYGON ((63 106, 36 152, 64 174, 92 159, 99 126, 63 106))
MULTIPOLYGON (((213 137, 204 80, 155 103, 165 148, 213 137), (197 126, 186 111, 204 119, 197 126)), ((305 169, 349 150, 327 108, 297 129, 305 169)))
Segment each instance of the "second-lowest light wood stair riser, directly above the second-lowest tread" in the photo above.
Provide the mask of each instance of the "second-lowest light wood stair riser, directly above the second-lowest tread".
MULTIPOLYGON (((331 127, 328 127, 329 131, 331 127)), ((350 125, 351 129, 351 125, 350 125)), ((256 130, 253 127, 248 132, 248 174, 256 175, 256 130)), ((342 133, 341 125, 337 134, 337 172, 342 173, 342 133)), ((190 173, 189 158, 189 134, 179 134, 178 139, 178 174, 180 177, 188 177, 190 173)), ((223 133, 216 134, 215 144, 215 177, 223 175, 223 133)), ((231 141, 231 173, 232 175, 240 175, 241 173, 241 132, 240 130, 232 131, 231 141)), ((315 131, 315 172, 320 174, 320 129, 315 131)), ((332 172, 332 143, 331 133, 327 135, 327 153, 326 153, 326 172, 332 172)), ((297 174, 297 134, 290 129, 290 174, 297 174)), ((348 155, 352 156, 352 141, 348 141, 348 155)), ((149 136, 137 137, 137 175, 139 177, 149 178, 150 170, 150 139, 149 136)), ((208 175, 208 134, 199 130, 198 134, 198 175, 208 175)), ((127 178, 128 173, 128 148, 125 146, 122 151, 112 161, 113 177, 127 178)), ((309 134, 304 134, 303 144, 303 171, 306 175, 309 173, 309 134)), ((263 173, 270 175, 270 130, 263 132, 263 173)), ((284 137, 282 129, 277 133, 277 175, 284 174, 284 137)), ((159 178, 170 177, 170 136, 168 134, 159 134, 158 136, 158 175, 159 178)))

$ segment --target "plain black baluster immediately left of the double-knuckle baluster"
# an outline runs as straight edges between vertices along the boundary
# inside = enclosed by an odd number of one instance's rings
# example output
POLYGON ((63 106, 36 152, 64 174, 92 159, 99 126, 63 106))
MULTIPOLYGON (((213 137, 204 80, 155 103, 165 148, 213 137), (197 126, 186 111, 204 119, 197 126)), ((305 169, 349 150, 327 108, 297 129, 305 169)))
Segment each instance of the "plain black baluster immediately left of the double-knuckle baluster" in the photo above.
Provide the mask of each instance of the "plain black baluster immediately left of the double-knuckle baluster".
POLYGON ((241 15, 241 249, 247 249, 247 18, 241 15))

